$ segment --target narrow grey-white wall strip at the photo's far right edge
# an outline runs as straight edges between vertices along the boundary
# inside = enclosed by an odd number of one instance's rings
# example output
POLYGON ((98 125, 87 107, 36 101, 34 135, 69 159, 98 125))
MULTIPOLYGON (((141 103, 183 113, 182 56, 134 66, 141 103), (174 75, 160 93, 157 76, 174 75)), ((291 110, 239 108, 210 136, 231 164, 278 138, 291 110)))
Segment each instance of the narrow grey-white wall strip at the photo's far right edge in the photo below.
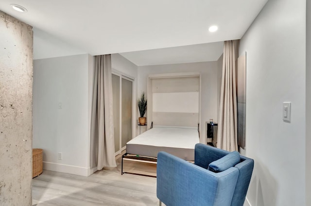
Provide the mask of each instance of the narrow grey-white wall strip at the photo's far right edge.
MULTIPOLYGON (((307 0, 306 42, 306 194, 311 194, 311 2, 307 0)), ((311 206, 311 195, 306 195, 306 205, 311 206)))

